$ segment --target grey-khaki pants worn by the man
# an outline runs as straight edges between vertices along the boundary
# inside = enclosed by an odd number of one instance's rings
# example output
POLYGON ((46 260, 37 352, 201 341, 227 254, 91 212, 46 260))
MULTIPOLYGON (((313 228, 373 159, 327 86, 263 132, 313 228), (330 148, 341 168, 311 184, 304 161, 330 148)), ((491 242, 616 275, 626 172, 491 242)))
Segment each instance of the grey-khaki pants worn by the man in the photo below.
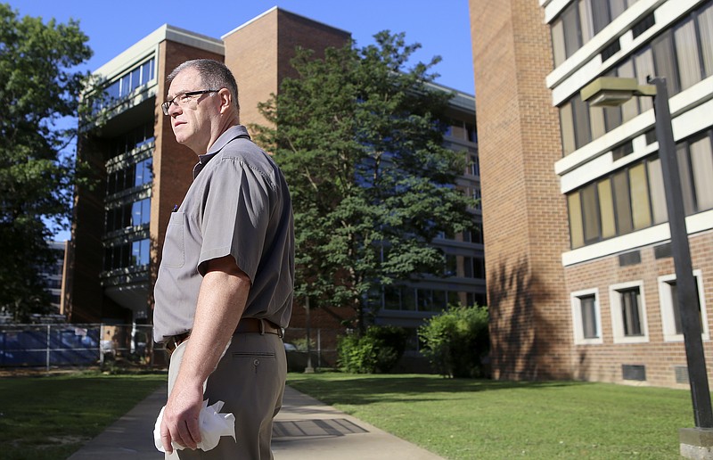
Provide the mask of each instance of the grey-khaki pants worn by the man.
MULTIPOLYGON (((185 341, 171 355, 168 366, 168 394, 176 381, 184 355, 185 341)), ((235 439, 224 436, 217 447, 174 450, 167 459, 266 460, 270 449, 273 418, 283 405, 287 360, 283 341, 273 333, 236 333, 230 347, 210 374, 205 397, 209 405, 224 401, 220 412, 235 415, 235 439)))

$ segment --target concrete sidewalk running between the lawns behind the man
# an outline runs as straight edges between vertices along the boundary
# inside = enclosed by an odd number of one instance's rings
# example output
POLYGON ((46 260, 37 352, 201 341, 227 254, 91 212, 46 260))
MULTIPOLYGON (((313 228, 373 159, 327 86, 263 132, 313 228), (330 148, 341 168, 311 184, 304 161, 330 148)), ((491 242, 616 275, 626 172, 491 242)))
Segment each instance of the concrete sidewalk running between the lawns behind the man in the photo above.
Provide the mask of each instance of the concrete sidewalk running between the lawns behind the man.
MULTIPOLYGON (((153 445, 153 424, 165 402, 165 389, 154 392, 70 460, 163 458, 153 445)), ((273 452, 275 460, 441 458, 290 387, 285 389, 283 409, 275 419, 273 452)))

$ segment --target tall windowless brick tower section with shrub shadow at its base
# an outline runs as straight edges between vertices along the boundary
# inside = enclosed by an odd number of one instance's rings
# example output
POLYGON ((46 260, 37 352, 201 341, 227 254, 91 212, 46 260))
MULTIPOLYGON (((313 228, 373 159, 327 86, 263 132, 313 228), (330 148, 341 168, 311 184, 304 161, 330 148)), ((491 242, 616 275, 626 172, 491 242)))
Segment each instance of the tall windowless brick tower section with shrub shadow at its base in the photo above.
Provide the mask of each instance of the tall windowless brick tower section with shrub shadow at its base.
POLYGON ((566 203, 553 164, 559 118, 545 76, 549 30, 531 0, 470 0, 483 233, 496 378, 566 378, 566 203))

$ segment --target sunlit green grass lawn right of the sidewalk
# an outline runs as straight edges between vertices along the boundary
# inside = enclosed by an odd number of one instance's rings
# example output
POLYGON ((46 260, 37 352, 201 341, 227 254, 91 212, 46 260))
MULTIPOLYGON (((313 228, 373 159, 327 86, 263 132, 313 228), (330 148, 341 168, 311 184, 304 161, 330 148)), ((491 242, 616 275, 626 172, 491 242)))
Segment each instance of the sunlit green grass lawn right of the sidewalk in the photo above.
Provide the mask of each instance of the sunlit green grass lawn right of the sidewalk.
POLYGON ((446 458, 679 458, 690 393, 586 382, 290 374, 296 390, 446 458))

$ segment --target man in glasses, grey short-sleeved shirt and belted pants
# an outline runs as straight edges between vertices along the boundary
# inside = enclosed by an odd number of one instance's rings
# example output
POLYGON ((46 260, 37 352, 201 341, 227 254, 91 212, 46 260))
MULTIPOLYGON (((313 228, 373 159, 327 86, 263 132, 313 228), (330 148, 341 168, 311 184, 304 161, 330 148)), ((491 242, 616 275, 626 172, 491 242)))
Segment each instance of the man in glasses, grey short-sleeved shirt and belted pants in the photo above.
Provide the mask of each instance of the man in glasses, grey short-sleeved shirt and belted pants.
POLYGON ((168 82, 164 114, 200 161, 171 214, 154 289, 154 340, 171 353, 161 442, 168 458, 272 458, 294 278, 290 194, 239 124, 238 88, 224 64, 184 62, 168 82), (196 450, 204 398, 235 415, 237 442, 196 450))

